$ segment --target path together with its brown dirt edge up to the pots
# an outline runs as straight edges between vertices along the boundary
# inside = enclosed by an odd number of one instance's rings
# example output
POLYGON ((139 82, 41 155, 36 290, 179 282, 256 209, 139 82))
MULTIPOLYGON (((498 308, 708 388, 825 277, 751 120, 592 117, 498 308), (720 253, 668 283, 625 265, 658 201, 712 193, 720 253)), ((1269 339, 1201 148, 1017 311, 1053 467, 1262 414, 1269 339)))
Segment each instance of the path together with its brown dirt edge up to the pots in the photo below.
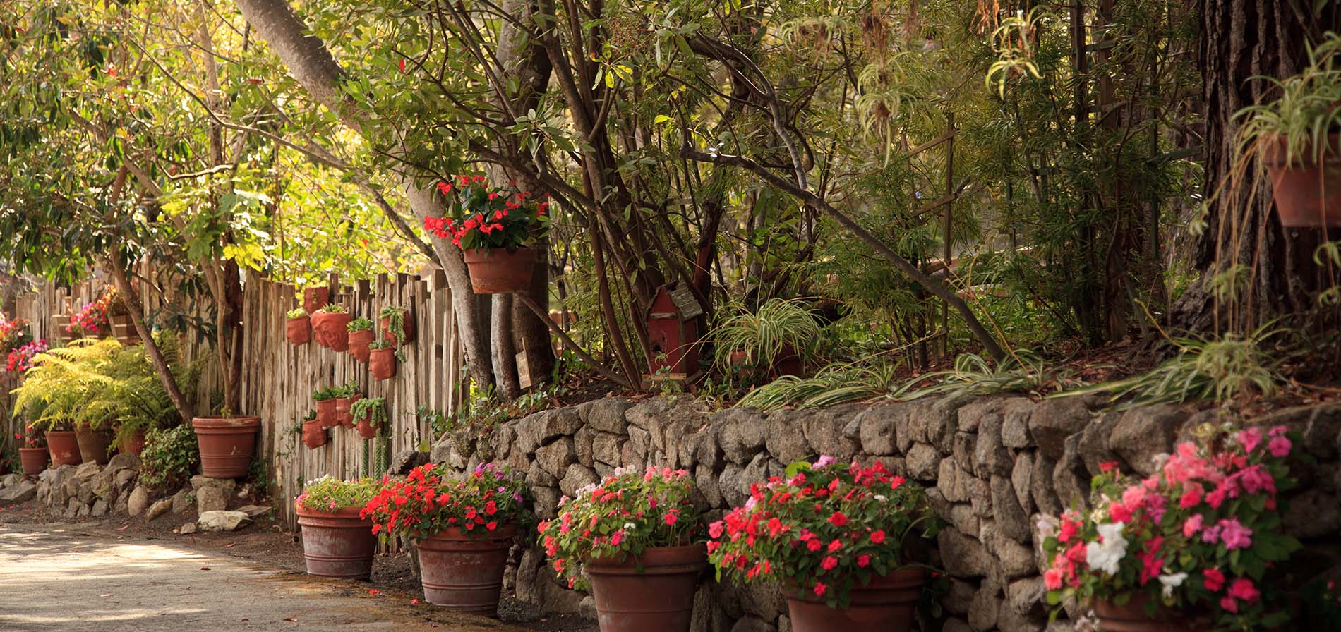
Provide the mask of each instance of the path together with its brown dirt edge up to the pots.
POLYGON ((422 603, 406 556, 378 556, 373 581, 303 574, 302 545, 279 525, 172 533, 185 518, 64 522, 30 502, 0 509, 0 629, 99 632, 235 629, 452 629, 586 632, 581 617, 540 617, 504 599, 503 621, 422 603), (202 570, 208 568, 208 570, 202 570), (416 603, 417 601, 417 603, 416 603))

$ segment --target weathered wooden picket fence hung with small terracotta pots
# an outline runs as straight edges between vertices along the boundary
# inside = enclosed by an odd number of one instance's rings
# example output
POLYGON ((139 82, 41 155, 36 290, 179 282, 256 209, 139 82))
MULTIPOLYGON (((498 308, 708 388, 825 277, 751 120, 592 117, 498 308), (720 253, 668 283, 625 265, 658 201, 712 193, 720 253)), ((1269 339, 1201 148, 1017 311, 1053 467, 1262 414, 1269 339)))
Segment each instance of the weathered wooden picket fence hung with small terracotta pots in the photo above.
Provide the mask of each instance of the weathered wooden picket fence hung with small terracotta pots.
MULTIPOLYGON (((12 317, 28 319, 34 337, 55 344, 64 317, 97 299, 105 287, 106 280, 101 277, 72 288, 47 284, 19 296, 12 317)), ((148 317, 162 313, 164 308, 177 308, 174 296, 143 291, 142 297, 148 317)), ((299 305, 292 285, 263 279, 248 279, 243 284, 240 412, 261 418, 259 462, 268 473, 276 510, 291 528, 296 525, 292 499, 306 481, 323 475, 381 475, 390 455, 422 449, 434 439, 430 420, 417 414, 420 408, 453 415, 468 388, 461 371, 464 353, 452 317, 452 296, 441 273, 430 279, 380 274, 354 285, 333 283, 330 300, 354 317, 374 323, 382 307, 404 307, 413 316, 416 331, 413 340, 404 345, 405 362, 397 364, 396 376, 373 380, 367 366, 347 352, 330 351, 315 340, 300 347, 288 344, 284 312, 299 305), (386 398, 389 427, 374 441, 362 441, 353 430, 334 427, 329 430, 326 446, 308 450, 303 446, 300 427, 303 415, 314 408, 312 392, 351 380, 359 384, 365 396, 386 398)), ((185 336, 182 351, 188 358, 207 359, 197 410, 208 410, 212 398, 217 402, 221 386, 213 349, 185 336)), ((0 396, 0 403, 5 402, 0 396)), ((7 437, 12 438, 13 431, 8 428, 7 437)))

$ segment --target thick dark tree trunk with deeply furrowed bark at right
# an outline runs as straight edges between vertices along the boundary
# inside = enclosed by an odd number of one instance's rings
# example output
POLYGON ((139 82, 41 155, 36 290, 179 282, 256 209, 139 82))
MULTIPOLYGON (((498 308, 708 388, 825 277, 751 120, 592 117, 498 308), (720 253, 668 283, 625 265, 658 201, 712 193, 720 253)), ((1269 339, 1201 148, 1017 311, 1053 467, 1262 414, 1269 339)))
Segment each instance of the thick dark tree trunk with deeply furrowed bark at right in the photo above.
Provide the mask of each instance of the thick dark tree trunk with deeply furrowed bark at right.
POLYGON ((1322 273, 1311 261, 1318 230, 1286 232, 1271 204, 1270 183, 1248 158, 1246 177, 1231 183, 1239 159, 1234 112, 1274 100, 1278 92, 1262 76, 1286 78, 1307 66, 1307 43, 1341 29, 1341 7, 1326 3, 1317 16, 1311 3, 1279 0, 1200 0, 1199 70, 1206 103, 1206 186, 1211 200, 1207 229, 1198 241, 1198 287, 1185 292, 1172 321, 1189 331, 1246 332, 1313 307, 1322 273), (1212 284, 1232 266, 1246 266, 1243 284, 1216 297, 1212 284))

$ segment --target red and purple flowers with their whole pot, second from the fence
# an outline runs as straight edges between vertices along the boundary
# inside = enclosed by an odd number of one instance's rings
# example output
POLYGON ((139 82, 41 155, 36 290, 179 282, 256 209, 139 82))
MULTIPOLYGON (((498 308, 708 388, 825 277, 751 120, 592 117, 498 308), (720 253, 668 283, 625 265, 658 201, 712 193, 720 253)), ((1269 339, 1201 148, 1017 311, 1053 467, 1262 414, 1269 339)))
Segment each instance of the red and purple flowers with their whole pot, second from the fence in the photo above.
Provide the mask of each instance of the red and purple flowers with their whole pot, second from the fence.
POLYGON ((528 494, 506 467, 484 463, 463 477, 428 463, 386 481, 362 517, 384 540, 414 542, 428 603, 493 616, 508 549, 531 520, 528 494))

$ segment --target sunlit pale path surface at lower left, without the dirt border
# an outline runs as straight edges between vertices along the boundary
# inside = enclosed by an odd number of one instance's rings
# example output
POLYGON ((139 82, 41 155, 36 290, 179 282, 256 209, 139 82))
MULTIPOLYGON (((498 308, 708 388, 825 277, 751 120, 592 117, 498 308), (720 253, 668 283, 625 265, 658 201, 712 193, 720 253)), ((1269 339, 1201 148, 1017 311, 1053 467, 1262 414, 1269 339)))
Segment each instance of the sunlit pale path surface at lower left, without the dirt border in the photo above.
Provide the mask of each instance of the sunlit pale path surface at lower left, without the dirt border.
POLYGON ((5 632, 520 629, 410 597, 80 525, 0 524, 5 632))

